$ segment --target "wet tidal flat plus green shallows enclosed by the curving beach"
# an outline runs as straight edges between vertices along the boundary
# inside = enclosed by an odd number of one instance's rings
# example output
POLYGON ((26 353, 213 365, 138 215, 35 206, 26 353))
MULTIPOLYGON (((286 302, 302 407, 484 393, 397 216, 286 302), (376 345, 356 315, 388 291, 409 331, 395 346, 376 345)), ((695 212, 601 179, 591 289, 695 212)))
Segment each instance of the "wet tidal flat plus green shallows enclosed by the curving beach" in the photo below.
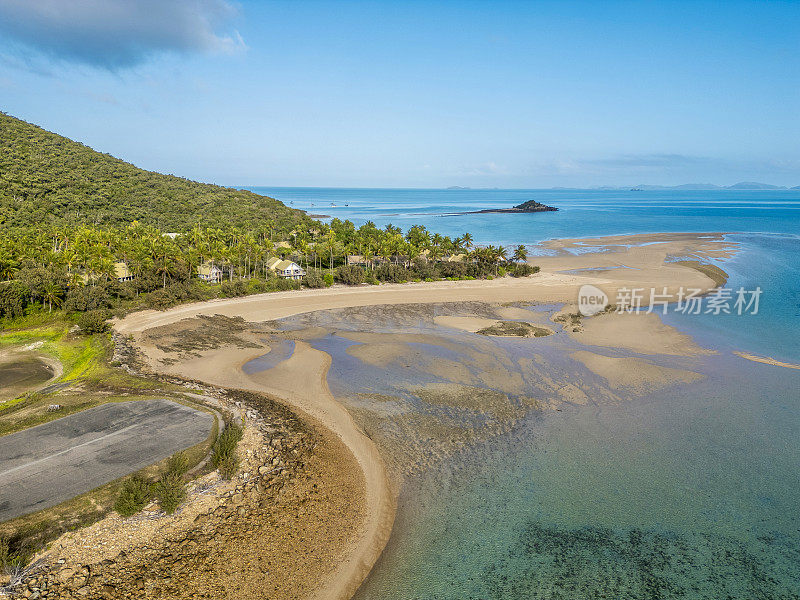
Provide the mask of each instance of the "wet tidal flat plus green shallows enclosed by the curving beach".
POLYGON ((758 365, 652 315, 621 326, 635 350, 606 343, 615 318, 583 336, 555 315, 451 303, 276 323, 330 354, 331 391, 400 482, 356 598, 800 597, 800 380, 756 385, 758 365), (470 331, 510 312, 555 333, 470 331), (647 321, 663 353, 636 342, 647 321))

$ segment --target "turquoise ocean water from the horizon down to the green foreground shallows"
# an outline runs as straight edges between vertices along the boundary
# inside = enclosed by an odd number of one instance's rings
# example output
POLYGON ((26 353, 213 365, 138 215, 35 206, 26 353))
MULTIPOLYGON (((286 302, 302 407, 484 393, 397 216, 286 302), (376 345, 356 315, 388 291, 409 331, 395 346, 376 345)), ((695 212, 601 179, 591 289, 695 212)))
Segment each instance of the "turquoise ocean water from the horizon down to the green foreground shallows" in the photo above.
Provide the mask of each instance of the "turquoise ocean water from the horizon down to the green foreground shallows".
POLYGON ((800 362, 799 190, 252 189, 478 243, 730 232, 728 286, 763 290, 755 316, 667 315, 718 350, 703 380, 533 414, 408 481, 359 600, 800 598, 800 371, 731 353, 800 362), (560 210, 447 215, 529 199, 560 210))

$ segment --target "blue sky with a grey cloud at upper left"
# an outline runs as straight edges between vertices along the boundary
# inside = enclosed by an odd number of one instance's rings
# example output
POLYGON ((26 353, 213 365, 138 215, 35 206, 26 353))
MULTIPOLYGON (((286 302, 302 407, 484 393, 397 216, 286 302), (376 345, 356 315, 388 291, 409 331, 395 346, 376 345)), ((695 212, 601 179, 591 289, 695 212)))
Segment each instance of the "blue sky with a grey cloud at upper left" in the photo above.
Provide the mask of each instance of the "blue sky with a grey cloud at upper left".
POLYGON ((223 185, 800 185, 800 2, 0 0, 0 110, 223 185))

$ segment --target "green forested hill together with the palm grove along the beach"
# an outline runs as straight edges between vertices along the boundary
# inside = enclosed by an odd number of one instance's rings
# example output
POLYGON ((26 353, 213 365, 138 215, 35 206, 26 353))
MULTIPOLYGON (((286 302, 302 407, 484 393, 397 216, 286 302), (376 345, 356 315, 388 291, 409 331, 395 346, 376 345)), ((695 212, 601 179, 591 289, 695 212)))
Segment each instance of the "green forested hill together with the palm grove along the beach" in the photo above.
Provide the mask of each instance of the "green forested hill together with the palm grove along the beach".
POLYGON ((0 319, 101 330, 138 308, 301 286, 526 276, 525 248, 414 226, 315 221, 272 198, 143 171, 0 115, 0 319), (297 262, 285 279, 270 259, 297 262), (213 270, 213 281, 199 275, 213 270))

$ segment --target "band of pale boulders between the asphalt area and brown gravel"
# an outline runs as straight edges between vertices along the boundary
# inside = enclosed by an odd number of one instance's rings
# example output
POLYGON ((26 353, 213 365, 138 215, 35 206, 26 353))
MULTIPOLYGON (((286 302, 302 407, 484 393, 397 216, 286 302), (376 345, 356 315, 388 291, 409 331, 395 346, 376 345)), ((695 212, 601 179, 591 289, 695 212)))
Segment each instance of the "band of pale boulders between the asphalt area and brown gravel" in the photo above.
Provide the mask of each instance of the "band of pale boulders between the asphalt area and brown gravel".
POLYGON ((236 477, 227 482, 211 473, 193 481, 189 500, 174 517, 153 504, 128 520, 113 515, 68 534, 71 539, 59 540, 29 567, 12 594, 31 600, 217 597, 222 591, 214 589, 218 584, 202 582, 215 549, 258 531, 289 482, 309 475, 304 463, 316 445, 314 436, 296 423, 274 417, 267 421, 254 408, 235 404, 246 415, 249 434, 236 477), (163 537, 124 535, 130 533, 126 525, 146 522, 157 524, 163 537), (95 552, 80 552, 103 546, 110 547, 96 552, 96 557, 115 552, 116 556, 91 561, 95 552))

